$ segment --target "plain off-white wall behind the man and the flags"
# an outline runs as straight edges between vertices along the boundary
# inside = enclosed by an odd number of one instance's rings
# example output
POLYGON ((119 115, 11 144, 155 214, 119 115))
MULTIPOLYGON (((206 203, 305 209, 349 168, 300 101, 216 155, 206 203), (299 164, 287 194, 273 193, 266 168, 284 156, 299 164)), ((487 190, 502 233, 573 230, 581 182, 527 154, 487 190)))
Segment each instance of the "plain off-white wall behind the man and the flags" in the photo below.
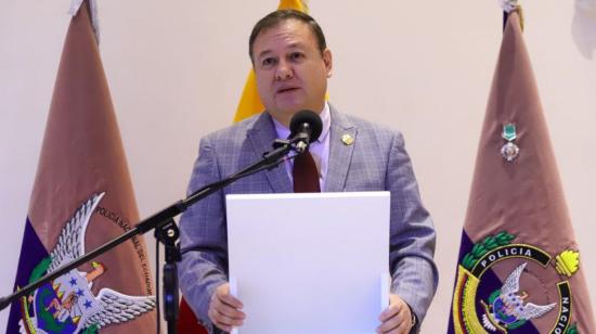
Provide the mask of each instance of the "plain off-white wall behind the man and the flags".
MULTIPOLYGON (((405 134, 439 235, 441 282, 424 332, 444 332, 502 12, 494 0, 310 2, 334 51, 334 104, 405 134)), ((248 34, 276 5, 100 1, 101 53, 142 217, 183 196, 198 139, 231 123, 250 66, 248 34)), ((596 1, 523 5, 596 309, 596 1)), ((2 296, 13 285, 68 7, 68 0, 0 0, 2 296)), ((0 312, 2 333, 8 313, 0 312)))

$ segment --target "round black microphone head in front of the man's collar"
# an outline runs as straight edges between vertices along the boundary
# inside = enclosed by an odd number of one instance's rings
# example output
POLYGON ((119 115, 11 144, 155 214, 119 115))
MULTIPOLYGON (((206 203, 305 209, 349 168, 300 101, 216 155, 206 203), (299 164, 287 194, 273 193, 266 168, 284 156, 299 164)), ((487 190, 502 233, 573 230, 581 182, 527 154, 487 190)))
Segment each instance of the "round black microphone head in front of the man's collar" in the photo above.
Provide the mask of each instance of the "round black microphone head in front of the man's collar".
POLYGON ((308 110, 299 111, 289 121, 289 140, 296 143, 296 151, 302 153, 311 142, 319 139, 322 130, 323 121, 316 113, 308 110))

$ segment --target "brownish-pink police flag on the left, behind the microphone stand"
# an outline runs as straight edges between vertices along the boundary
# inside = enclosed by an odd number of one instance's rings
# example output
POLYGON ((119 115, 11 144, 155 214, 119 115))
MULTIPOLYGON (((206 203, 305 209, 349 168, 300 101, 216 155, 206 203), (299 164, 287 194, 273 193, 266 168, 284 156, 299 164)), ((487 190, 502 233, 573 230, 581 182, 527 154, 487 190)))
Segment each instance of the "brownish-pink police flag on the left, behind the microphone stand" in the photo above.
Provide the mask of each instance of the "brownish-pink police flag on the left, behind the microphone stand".
MULTIPOLYGON (((121 235, 139 221, 87 3, 60 63, 23 240, 16 286, 121 235)), ((8 333, 153 333, 144 239, 42 285, 12 305, 8 333)))

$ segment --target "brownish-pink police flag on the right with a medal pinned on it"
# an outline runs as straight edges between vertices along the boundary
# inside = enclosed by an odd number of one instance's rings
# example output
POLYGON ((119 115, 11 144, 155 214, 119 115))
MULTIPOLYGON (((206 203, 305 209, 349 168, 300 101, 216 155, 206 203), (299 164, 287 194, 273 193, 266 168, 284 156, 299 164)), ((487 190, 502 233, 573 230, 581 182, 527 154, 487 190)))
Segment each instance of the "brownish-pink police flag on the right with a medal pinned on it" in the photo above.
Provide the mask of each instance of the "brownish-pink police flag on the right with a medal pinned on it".
POLYGON ((480 138, 449 333, 596 333, 539 93, 511 12, 480 138))

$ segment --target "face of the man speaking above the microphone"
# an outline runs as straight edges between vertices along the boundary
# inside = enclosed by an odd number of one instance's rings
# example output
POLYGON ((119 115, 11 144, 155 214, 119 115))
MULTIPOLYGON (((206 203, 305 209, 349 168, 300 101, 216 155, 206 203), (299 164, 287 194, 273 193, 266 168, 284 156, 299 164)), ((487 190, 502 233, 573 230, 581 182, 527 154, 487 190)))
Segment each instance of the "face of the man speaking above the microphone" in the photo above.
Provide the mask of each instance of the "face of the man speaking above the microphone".
POLYGON ((286 20, 261 31, 252 59, 259 95, 275 119, 287 126, 296 112, 323 110, 332 53, 321 54, 306 23, 286 20))

